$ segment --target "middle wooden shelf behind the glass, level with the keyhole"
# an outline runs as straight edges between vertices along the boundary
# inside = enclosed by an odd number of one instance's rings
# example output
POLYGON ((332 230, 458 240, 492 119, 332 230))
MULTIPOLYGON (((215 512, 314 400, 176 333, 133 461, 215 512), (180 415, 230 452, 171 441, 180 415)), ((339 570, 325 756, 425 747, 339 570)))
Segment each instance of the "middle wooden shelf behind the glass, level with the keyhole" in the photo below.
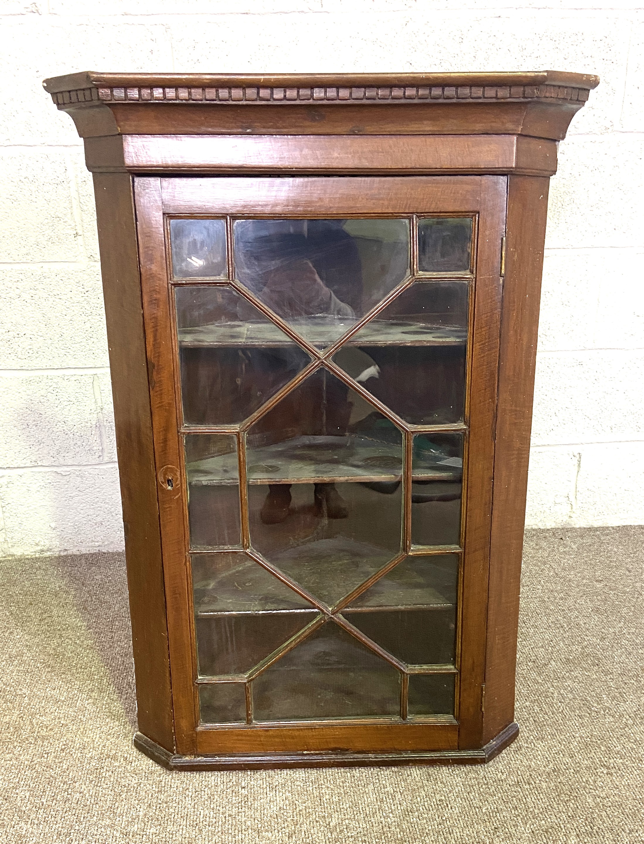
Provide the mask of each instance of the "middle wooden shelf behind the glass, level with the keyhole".
MULTIPOLYGON (((441 465, 453 460, 447 454, 414 455, 414 480, 457 481, 462 469, 441 465)), ((324 484, 395 482, 403 473, 403 446, 366 437, 296 436, 272 446, 248 448, 249 484, 324 484)), ((237 455, 222 454, 188 463, 192 485, 238 483, 237 455)))

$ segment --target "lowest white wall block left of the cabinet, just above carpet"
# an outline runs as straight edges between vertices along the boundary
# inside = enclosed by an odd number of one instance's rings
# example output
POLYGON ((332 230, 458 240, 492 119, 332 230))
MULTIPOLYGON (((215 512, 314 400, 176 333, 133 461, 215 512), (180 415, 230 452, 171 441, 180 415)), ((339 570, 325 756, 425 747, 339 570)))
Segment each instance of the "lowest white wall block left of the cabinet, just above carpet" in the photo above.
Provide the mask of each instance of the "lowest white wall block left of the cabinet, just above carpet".
POLYGON ((116 464, 0 473, 10 555, 123 549, 116 464))

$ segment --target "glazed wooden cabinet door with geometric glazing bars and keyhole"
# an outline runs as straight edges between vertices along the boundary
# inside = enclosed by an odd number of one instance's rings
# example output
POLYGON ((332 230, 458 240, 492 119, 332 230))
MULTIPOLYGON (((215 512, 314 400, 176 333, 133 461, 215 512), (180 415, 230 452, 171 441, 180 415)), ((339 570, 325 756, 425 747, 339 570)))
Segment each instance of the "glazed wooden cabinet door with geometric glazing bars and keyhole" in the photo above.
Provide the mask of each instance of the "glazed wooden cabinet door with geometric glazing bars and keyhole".
POLYGON ((135 197, 177 750, 478 746, 506 178, 135 197))

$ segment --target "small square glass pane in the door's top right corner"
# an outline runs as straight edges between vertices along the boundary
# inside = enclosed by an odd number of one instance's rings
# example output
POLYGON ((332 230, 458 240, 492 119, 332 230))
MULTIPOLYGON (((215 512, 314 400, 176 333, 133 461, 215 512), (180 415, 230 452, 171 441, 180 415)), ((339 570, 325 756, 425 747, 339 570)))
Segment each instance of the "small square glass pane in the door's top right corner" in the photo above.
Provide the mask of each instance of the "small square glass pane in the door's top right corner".
POLYGON ((418 268, 421 273, 467 273, 471 252, 471 217, 419 219, 418 268))

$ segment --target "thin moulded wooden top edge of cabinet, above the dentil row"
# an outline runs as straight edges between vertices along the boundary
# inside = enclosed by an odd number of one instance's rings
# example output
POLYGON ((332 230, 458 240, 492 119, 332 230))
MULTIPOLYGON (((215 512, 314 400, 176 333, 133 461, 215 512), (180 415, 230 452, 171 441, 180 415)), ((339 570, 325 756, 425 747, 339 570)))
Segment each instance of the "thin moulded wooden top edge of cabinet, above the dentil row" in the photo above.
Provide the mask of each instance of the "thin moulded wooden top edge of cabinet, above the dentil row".
POLYGON ((590 73, 568 73, 544 70, 536 73, 68 73, 45 79, 43 86, 50 94, 62 91, 100 88, 148 87, 245 87, 300 88, 341 86, 347 88, 381 88, 383 86, 458 86, 458 85, 562 85, 593 89, 599 77, 590 73))

